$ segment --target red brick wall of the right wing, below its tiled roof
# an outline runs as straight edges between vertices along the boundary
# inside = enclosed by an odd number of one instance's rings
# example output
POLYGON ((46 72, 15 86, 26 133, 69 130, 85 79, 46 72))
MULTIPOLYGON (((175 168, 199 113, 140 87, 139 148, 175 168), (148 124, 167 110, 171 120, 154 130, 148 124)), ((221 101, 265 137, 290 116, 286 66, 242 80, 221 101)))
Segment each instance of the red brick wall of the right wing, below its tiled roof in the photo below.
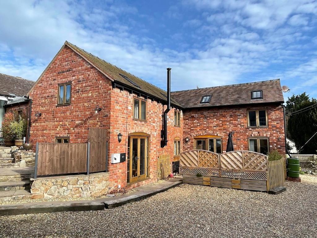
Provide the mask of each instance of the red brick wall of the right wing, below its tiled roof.
POLYGON ((215 135, 223 137, 223 152, 227 148, 228 134, 234 131, 233 143, 235 150, 248 150, 248 137, 269 137, 269 150, 278 150, 285 154, 283 108, 280 105, 237 106, 210 109, 185 110, 183 136, 188 136, 189 142, 184 143, 184 151, 193 149, 193 137, 200 135, 215 135), (248 128, 247 110, 267 109, 267 128, 248 128))

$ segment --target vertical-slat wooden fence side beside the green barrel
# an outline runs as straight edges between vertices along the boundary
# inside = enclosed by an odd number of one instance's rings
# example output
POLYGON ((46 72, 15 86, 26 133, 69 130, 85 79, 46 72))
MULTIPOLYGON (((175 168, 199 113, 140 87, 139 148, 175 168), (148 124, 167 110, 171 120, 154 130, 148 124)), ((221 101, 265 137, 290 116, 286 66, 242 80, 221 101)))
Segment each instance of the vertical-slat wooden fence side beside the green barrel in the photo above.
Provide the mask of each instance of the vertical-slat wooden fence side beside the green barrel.
POLYGON ((268 190, 284 186, 283 159, 268 162, 268 190))

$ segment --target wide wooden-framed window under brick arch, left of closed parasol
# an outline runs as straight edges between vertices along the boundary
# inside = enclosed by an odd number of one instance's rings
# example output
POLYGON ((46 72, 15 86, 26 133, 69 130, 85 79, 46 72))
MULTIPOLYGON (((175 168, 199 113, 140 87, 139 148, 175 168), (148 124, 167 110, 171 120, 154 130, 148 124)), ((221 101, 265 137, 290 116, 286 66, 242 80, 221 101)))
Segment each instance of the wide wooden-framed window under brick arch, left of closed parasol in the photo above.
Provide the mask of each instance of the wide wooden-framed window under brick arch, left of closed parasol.
POLYGON ((209 150, 211 152, 222 153, 222 138, 212 136, 197 136, 194 138, 194 149, 209 150))

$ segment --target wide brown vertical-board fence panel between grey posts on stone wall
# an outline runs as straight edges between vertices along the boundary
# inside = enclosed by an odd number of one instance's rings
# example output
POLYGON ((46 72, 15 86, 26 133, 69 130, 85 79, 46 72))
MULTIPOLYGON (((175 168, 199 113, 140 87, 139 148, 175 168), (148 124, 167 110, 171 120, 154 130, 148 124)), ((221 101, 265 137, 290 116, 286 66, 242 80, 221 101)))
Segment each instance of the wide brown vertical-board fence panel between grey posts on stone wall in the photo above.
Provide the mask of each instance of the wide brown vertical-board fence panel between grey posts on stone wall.
POLYGON ((87 143, 39 143, 37 175, 85 173, 87 143))

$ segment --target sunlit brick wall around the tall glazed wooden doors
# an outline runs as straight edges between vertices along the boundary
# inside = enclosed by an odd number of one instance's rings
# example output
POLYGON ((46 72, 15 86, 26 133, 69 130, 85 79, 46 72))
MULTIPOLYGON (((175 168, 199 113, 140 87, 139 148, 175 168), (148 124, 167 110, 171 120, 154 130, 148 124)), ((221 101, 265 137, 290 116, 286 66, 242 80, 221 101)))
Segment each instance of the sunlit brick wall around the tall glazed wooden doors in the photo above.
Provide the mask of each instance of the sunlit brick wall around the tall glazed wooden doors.
MULTIPOLYGON (((150 179, 130 185, 134 188, 145 183, 154 182, 157 178, 157 158, 159 155, 170 154, 173 159, 173 140, 175 137, 183 138, 183 118, 181 116, 181 126, 174 126, 174 108, 168 113, 168 144, 160 148, 162 115, 166 109, 161 103, 147 100, 147 121, 140 122, 133 120, 133 97, 127 91, 113 89, 111 92, 111 115, 110 115, 110 141, 109 141, 109 180, 112 188, 121 185, 126 186, 127 162, 111 164, 111 154, 127 153, 128 135, 133 132, 144 132, 150 135, 150 179), (122 141, 118 142, 118 133, 123 135, 122 141)), ((142 98, 142 97, 141 97, 142 98)), ((181 113, 182 114, 182 113, 181 113)))

